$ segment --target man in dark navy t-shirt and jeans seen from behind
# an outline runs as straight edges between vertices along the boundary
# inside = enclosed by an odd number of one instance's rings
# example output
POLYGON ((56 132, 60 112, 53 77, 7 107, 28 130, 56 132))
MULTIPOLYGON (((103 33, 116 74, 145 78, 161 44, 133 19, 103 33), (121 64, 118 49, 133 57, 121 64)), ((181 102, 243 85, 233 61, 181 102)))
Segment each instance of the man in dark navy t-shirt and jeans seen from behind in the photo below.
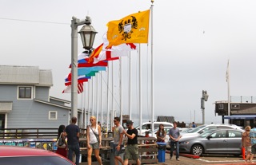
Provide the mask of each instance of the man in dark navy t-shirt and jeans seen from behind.
POLYGON ((66 136, 67 136, 67 147, 69 148, 68 159, 73 161, 73 152, 75 153, 75 164, 79 165, 80 157, 80 147, 79 147, 79 136, 80 128, 76 125, 78 119, 72 117, 71 124, 66 126, 66 136))

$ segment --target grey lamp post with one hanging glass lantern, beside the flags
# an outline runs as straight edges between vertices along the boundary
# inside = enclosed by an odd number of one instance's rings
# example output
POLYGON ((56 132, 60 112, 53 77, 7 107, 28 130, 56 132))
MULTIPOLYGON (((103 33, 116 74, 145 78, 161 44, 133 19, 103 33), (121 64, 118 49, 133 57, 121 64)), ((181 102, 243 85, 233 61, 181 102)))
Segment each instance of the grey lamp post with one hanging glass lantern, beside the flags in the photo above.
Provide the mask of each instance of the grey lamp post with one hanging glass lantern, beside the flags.
POLYGON ((90 52, 95 35, 98 33, 90 24, 91 20, 88 16, 85 20, 75 17, 71 20, 71 117, 78 117, 78 33, 81 35, 83 48, 90 52), (79 32, 78 26, 82 26, 79 32))

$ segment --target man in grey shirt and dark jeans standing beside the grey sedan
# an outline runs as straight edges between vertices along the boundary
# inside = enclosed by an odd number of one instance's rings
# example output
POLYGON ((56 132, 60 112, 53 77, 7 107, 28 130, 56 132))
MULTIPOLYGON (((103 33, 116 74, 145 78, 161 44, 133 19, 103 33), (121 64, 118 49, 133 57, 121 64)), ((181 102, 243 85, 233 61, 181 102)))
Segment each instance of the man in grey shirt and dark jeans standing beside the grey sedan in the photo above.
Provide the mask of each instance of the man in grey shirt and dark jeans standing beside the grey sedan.
POLYGON ((170 128, 169 136, 170 136, 170 159, 173 157, 174 153, 174 145, 176 146, 176 160, 179 161, 179 144, 178 140, 182 137, 179 133, 179 129, 177 128, 177 122, 174 121, 174 127, 170 128))

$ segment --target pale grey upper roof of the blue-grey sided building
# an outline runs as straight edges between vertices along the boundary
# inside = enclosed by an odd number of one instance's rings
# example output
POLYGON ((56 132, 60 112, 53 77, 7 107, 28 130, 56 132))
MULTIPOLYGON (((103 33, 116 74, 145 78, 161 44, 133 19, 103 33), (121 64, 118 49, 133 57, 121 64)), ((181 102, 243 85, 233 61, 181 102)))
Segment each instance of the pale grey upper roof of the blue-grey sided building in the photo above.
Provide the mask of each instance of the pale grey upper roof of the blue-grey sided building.
POLYGON ((38 66, 0 65, 0 84, 53 86, 53 77, 51 70, 38 66))

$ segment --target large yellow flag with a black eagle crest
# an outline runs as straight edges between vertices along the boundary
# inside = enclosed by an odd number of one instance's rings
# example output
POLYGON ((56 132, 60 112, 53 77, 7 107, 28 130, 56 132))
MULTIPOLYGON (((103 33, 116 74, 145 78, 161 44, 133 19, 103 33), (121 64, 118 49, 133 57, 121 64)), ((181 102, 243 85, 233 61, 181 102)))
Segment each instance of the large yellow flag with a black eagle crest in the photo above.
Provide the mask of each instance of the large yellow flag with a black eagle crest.
POLYGON ((107 39, 110 45, 147 43, 150 10, 130 14, 117 21, 108 22, 107 39))

